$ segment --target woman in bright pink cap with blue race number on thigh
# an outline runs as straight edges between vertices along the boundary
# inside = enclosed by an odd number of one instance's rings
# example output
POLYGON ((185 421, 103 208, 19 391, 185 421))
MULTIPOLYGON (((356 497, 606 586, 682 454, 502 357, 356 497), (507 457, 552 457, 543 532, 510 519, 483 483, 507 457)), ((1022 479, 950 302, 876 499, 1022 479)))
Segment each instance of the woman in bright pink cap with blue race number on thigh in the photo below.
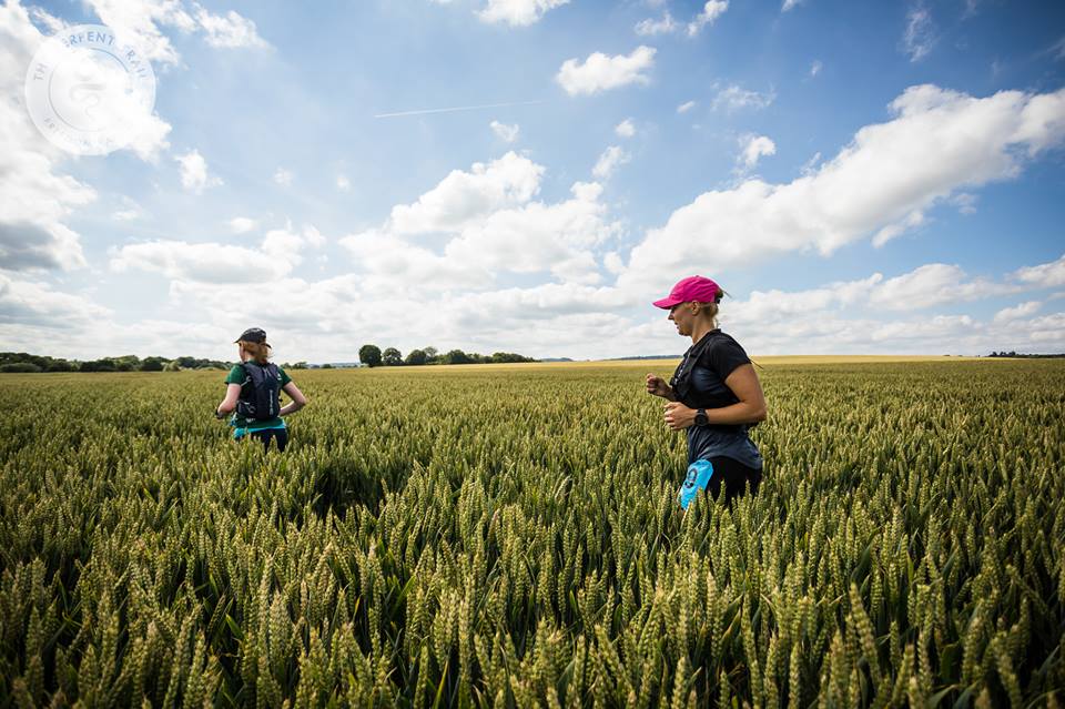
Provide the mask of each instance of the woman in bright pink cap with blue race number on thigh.
POLYGON ((666 425, 688 434, 688 475, 678 494, 684 509, 700 489, 716 498, 723 486, 731 503, 762 482, 762 456, 748 432, 765 421, 765 397, 743 347, 718 327, 722 294, 710 278, 690 276, 655 301, 692 343, 669 384, 647 375, 648 393, 670 402, 666 425))

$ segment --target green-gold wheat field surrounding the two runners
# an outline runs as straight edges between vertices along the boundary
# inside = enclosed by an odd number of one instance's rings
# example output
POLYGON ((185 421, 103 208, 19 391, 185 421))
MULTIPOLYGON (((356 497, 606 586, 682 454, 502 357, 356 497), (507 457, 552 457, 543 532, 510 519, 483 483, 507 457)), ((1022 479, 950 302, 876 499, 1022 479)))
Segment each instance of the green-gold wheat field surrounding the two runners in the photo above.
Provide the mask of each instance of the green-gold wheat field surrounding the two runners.
POLYGON ((1062 703, 1065 363, 819 362, 687 515, 670 363, 3 375, 0 705, 1062 703))

